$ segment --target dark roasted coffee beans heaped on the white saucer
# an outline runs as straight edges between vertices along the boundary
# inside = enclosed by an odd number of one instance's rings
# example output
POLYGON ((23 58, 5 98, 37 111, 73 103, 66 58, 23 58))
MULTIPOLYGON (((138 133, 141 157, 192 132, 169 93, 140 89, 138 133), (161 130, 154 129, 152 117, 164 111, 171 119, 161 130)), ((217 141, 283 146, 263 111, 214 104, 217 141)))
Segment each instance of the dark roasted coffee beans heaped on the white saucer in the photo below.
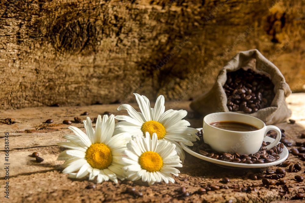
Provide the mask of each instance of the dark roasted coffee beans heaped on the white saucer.
POLYGON ((200 140, 194 142, 192 150, 196 153, 199 153, 203 156, 207 156, 213 159, 218 159, 222 161, 228 161, 228 162, 234 162, 234 163, 270 163, 274 162, 275 160, 278 160, 280 158, 280 155, 283 152, 284 144, 279 143, 278 145, 274 146, 272 149, 267 150, 267 145, 270 145, 270 142, 263 142, 262 146, 260 148, 260 151, 258 151, 255 154, 230 154, 230 153, 219 153, 216 151, 213 151, 210 148, 210 145, 204 143, 202 138, 202 131, 199 131, 197 133, 200 140))

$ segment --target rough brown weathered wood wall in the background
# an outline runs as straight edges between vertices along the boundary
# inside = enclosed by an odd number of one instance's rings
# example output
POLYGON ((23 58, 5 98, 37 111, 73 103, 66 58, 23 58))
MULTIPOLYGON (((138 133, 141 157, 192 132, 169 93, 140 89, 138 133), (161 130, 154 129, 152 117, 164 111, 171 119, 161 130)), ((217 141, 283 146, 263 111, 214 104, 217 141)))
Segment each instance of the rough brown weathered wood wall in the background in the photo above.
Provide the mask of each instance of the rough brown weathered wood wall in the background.
MULTIPOLYGON (((187 100, 238 51, 257 48, 305 84, 299 0, 0 2, 0 108, 187 100)), ((302 38, 303 37, 303 38, 302 38)))

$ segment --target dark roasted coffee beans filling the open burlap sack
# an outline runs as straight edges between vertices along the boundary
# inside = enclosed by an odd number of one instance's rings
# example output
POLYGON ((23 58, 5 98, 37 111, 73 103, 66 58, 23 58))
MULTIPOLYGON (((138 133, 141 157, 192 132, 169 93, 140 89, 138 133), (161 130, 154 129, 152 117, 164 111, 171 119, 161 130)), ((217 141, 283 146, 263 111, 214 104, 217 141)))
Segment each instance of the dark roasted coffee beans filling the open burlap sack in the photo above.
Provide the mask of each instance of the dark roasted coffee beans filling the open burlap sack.
POLYGON ((271 79, 250 69, 228 72, 223 88, 229 111, 244 111, 247 114, 270 107, 275 96, 271 79))

